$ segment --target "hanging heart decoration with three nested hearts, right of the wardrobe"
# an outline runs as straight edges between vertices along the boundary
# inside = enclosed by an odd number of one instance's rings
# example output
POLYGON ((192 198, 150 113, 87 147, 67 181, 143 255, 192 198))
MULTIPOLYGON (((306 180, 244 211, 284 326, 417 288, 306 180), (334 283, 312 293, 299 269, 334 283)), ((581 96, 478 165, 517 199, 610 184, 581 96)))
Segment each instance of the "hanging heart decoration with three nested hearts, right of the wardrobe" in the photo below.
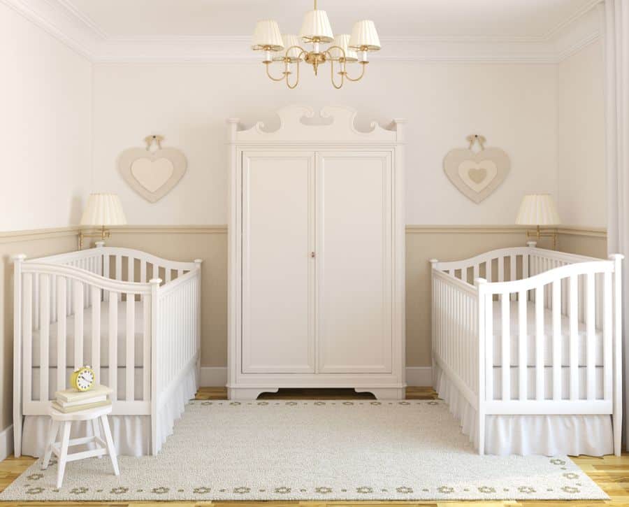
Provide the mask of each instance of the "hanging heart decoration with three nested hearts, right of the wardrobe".
MULTIPOLYGON (((470 136, 477 138, 477 136, 470 136)), ((470 139, 470 138, 468 138, 470 139)), ((443 169, 452 184, 475 203, 481 202, 503 183, 511 169, 509 156, 500 148, 451 150, 443 160, 443 169)))

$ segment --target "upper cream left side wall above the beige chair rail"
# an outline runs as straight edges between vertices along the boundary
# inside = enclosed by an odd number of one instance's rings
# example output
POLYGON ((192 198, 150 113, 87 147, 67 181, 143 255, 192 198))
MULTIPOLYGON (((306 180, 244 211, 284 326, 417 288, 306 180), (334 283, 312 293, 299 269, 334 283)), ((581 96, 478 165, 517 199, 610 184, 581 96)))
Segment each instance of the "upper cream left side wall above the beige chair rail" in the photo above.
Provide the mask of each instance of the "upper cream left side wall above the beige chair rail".
POLYGON ((0 3, 0 231, 80 219, 92 183, 92 64, 0 3))

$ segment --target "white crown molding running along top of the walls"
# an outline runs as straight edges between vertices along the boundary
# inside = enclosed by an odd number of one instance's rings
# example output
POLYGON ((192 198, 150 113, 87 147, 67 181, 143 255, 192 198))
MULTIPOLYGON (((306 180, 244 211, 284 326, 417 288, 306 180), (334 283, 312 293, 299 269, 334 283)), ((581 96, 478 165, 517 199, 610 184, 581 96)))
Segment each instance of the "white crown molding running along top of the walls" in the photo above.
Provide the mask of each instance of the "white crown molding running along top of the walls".
MULTIPOLYGON (((540 36, 381 37, 374 60, 554 64, 598 40, 600 24, 588 0, 540 36)), ((250 36, 109 36, 72 0, 0 0, 94 63, 257 62, 250 36)))

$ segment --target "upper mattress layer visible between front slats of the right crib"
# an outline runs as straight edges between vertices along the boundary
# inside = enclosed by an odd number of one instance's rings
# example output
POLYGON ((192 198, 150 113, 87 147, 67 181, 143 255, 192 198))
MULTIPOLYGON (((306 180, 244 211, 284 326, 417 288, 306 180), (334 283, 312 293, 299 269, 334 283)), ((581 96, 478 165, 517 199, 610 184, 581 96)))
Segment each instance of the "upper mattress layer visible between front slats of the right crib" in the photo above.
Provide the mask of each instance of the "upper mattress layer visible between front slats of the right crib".
MULTIPOLYGON (((510 335, 511 335, 511 366, 518 365, 518 348, 519 348, 519 317, 518 302, 510 301, 510 335)), ((526 306, 526 333, 528 335, 528 346, 526 359, 528 366, 535 366, 535 302, 527 301, 526 306)), ((579 322, 578 330, 578 364, 586 366, 586 324, 579 322)), ((544 365, 552 366, 553 364, 553 317, 552 311, 544 310, 544 365)), ((503 324, 502 313, 500 311, 500 301, 493 301, 493 365, 501 366, 502 360, 502 340, 503 340, 503 324)), ((594 364, 595 366, 603 365, 603 342, 602 331, 595 329, 594 335, 594 364)), ((561 364, 563 366, 570 365, 570 319, 565 315, 561 316, 561 364)))

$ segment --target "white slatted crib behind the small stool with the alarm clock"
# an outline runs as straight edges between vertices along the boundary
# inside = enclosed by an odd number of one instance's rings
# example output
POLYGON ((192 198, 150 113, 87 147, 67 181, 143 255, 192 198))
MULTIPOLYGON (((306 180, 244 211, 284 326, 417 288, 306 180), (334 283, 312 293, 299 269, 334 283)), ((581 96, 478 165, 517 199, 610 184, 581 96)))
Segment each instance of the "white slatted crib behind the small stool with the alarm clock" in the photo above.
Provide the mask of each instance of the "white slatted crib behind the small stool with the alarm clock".
POLYGON ((145 443, 141 453, 153 455, 198 385, 201 260, 96 245, 14 257, 16 456, 23 423, 24 431, 30 424, 24 443, 41 448, 34 440, 45 434, 50 399, 76 366, 90 364, 96 382, 113 389, 117 443, 136 438, 145 443), (125 435, 132 427, 136 434, 125 435))

